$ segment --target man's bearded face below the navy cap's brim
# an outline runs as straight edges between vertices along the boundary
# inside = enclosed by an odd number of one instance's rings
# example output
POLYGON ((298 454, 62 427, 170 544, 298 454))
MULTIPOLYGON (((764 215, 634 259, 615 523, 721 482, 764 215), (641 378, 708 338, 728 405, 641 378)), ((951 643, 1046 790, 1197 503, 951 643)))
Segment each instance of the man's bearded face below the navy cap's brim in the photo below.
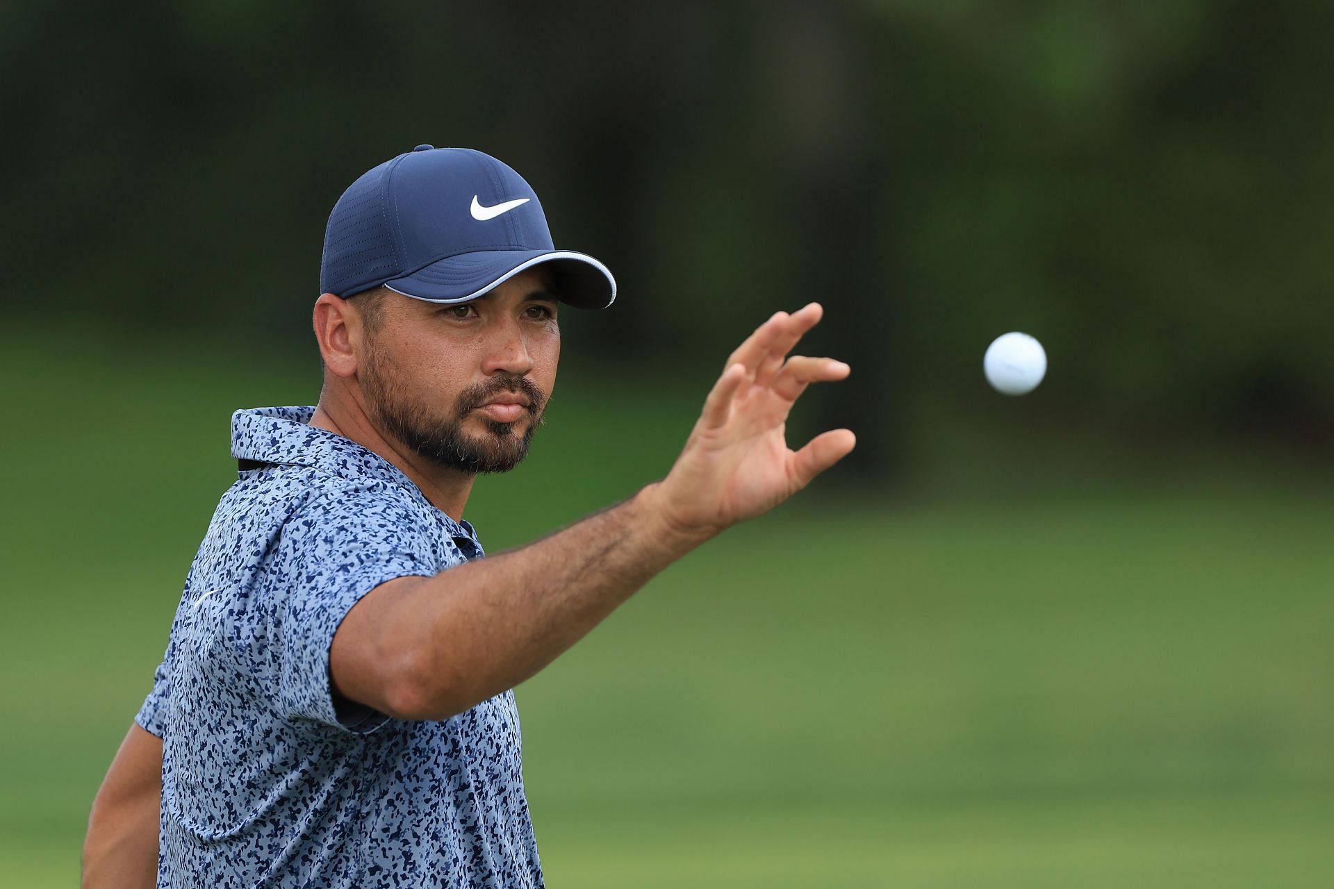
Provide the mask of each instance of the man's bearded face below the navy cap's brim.
POLYGON ((556 381, 560 328, 550 272, 438 305, 388 293, 358 377, 382 433, 464 473, 507 472, 528 453, 556 381))

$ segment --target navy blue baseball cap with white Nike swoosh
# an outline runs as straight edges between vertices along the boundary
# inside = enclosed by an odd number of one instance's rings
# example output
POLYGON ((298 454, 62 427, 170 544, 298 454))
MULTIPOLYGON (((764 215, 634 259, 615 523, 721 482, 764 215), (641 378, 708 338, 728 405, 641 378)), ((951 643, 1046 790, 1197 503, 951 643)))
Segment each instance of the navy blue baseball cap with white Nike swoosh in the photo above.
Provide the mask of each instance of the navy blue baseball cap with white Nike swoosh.
POLYGON ((428 303, 475 300, 538 264, 563 303, 603 309, 616 279, 591 256, 558 251, 536 192, 471 148, 418 145, 352 183, 324 229, 320 292, 386 285, 428 303))

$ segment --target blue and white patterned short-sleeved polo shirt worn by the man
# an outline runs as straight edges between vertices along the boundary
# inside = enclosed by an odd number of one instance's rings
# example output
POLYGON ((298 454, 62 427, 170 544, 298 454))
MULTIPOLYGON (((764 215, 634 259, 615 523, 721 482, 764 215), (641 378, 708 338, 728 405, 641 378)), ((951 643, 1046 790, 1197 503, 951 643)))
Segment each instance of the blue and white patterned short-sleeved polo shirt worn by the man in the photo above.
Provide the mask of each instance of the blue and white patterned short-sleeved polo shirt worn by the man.
POLYGON ((163 738, 157 885, 542 886, 514 692, 410 722, 329 685, 329 642, 363 594, 483 553, 312 413, 232 416, 243 469, 136 717, 163 738))

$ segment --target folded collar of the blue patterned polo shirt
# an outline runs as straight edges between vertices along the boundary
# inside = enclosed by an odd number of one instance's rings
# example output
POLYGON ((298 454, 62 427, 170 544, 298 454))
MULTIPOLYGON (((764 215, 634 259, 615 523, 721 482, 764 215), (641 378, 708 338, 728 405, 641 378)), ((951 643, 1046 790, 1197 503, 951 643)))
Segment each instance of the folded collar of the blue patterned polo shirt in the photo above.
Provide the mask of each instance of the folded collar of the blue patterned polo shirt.
POLYGON ((350 481, 374 478, 399 488, 431 505, 451 525, 451 534, 476 542, 467 521, 455 521, 435 508, 422 489, 392 462, 358 443, 309 425, 313 407, 249 408, 232 415, 232 456, 287 466, 315 466, 350 481))

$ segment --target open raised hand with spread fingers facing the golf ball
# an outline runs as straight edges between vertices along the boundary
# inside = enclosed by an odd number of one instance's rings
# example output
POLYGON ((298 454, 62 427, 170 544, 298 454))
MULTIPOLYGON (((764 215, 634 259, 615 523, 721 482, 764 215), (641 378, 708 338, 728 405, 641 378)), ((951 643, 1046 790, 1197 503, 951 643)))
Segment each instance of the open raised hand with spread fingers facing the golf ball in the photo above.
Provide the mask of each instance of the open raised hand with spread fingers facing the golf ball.
POLYGON ((852 450, 856 437, 848 429, 819 435, 796 452, 784 439, 806 387, 851 372, 832 359, 787 357, 822 315, 818 303, 778 312, 732 352, 686 448, 651 492, 668 526, 707 538, 768 512, 852 450))

